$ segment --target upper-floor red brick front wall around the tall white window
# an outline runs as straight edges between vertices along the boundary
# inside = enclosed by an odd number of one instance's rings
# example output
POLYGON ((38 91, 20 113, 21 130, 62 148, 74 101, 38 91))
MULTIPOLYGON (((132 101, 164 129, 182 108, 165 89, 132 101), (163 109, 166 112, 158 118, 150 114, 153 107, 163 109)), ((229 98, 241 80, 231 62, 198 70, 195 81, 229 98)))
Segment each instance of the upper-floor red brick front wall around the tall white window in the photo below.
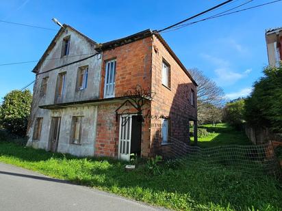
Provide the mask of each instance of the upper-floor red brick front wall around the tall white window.
POLYGON ((151 49, 152 38, 149 37, 103 51, 101 98, 105 83, 105 62, 110 59, 116 59, 116 97, 123 96, 136 85, 151 87, 151 49))

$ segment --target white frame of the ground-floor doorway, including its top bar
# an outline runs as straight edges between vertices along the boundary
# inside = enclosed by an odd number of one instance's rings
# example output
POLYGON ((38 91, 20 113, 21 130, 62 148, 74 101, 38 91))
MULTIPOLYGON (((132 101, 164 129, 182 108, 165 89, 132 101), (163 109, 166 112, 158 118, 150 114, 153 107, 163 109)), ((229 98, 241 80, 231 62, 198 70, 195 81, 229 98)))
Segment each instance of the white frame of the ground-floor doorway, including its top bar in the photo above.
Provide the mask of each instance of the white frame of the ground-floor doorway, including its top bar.
MULTIPOLYGON (((132 126, 132 116, 134 115, 138 115, 138 113, 131 113, 131 114, 122 114, 120 115, 120 123, 119 123, 119 128, 118 128, 118 159, 120 160, 126 160, 126 161, 130 161, 130 147, 131 147, 131 126, 132 126), (121 147, 121 129, 123 128, 122 123, 123 123, 123 117, 129 117, 130 121, 129 121, 129 153, 128 154, 121 154, 120 153, 120 147, 121 147)), ((127 131, 127 130, 126 130, 127 131)), ((127 131, 128 132, 128 131, 127 131)))

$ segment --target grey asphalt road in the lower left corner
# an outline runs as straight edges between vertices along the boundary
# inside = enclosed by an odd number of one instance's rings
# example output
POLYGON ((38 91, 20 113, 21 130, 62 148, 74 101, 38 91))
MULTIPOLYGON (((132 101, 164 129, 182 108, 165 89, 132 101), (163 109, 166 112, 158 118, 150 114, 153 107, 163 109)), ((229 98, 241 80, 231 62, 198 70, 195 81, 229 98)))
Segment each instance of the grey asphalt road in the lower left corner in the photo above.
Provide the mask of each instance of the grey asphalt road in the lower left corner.
POLYGON ((0 163, 0 210, 159 210, 0 163))

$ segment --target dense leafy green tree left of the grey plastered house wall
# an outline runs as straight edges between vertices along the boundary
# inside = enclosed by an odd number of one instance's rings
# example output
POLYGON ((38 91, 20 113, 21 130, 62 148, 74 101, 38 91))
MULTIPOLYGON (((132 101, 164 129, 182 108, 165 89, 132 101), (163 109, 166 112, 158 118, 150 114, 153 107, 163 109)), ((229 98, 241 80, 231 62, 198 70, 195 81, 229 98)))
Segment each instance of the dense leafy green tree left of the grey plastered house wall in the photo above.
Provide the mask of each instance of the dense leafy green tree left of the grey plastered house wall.
POLYGON ((25 136, 31 100, 29 90, 14 90, 8 93, 0 107, 1 126, 15 135, 25 136))

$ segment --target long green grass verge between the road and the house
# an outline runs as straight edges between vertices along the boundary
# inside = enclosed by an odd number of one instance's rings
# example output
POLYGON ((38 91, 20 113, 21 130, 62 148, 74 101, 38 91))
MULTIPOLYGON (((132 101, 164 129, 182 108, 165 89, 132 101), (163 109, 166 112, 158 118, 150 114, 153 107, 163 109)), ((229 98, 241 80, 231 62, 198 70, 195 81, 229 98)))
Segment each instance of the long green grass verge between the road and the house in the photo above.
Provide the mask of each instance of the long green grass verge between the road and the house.
POLYGON ((76 158, 0 141, 0 162, 38 171, 103 191, 174 210, 282 210, 282 187, 263 175, 232 169, 160 165, 154 175, 146 164, 125 171, 111 159, 76 158))

